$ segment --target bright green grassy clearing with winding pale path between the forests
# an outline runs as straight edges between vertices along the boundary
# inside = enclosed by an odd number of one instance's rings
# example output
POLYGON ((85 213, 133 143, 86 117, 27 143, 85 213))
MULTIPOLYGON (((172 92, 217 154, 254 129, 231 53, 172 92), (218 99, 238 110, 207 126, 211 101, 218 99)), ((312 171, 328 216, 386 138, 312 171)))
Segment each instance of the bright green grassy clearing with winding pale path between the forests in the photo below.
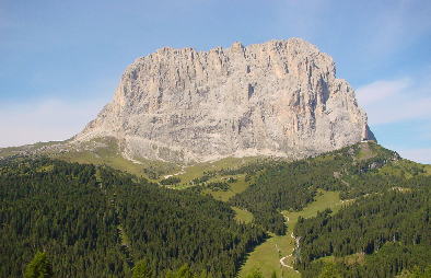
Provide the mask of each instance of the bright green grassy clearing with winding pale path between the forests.
MULTIPOLYGON (((323 192, 321 190, 315 198, 315 201, 308 204, 301 211, 283 211, 288 223, 288 232, 286 235, 272 235, 266 242, 257 246, 247 257, 244 266, 242 267, 238 277, 245 277, 254 268, 259 268, 264 277, 270 277, 272 271, 276 270, 278 277, 296 278, 301 277, 300 274, 290 268, 281 267, 280 258, 290 255, 294 248, 294 241, 291 238, 298 218, 310 218, 317 215, 317 211, 323 211, 330 208, 334 212, 342 207, 339 193, 323 192)), ((292 264, 291 259, 286 259, 289 265, 292 264)))

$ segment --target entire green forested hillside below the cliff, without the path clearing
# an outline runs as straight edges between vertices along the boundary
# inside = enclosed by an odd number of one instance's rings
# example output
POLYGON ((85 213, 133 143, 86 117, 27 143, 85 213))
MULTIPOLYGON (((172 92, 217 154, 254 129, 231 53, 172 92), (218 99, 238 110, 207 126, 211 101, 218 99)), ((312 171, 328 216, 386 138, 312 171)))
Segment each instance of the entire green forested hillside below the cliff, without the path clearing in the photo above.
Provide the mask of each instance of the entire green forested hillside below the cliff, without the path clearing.
POLYGON ((131 277, 135 266, 150 277, 235 277, 246 254, 275 233, 294 235, 288 264, 303 277, 427 277, 430 167, 373 142, 301 161, 228 165, 195 165, 154 184, 104 165, 3 159, 0 276, 21 277, 45 252, 56 277, 131 277), (287 221, 328 190, 343 208, 323 207, 295 227, 287 221), (252 222, 236 221, 232 207, 252 222))

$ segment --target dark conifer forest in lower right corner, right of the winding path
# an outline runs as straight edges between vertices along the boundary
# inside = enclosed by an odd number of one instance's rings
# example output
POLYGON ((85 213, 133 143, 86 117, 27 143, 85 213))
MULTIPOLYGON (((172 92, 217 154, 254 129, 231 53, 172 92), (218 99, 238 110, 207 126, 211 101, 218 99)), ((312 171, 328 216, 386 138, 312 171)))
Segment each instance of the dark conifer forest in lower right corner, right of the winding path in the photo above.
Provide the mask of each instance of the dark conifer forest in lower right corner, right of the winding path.
MULTIPOLYGON (((405 184, 408 185, 408 184, 405 184)), ((331 216, 299 219, 296 266, 316 277, 334 256, 341 277, 393 277, 431 265, 431 177, 423 188, 362 197, 331 216)))

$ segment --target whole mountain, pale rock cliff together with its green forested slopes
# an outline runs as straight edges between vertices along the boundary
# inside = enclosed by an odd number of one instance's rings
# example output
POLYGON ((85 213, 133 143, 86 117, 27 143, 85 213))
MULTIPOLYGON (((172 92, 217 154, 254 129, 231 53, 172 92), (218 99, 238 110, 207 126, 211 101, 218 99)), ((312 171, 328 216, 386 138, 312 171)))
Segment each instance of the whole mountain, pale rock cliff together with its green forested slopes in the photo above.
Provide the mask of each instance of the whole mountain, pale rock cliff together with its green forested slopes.
POLYGON ((315 46, 163 48, 81 134, 0 149, 0 277, 431 277, 430 197, 315 46))

